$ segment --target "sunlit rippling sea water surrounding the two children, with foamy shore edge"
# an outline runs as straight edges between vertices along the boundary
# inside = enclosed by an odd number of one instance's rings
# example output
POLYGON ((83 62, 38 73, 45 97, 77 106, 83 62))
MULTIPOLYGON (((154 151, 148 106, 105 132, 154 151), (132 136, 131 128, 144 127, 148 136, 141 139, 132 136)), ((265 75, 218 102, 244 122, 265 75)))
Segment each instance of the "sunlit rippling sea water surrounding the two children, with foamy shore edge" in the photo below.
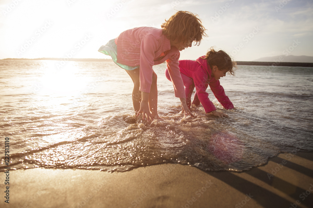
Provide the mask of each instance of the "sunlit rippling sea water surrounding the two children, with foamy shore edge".
POLYGON ((192 106, 185 117, 173 86, 158 75, 164 120, 137 124, 133 84, 110 61, 0 60, 0 170, 9 138, 11 169, 129 171, 179 163, 205 171, 243 171, 280 152, 313 151, 313 68, 238 66, 221 78, 236 107, 218 118, 192 106))

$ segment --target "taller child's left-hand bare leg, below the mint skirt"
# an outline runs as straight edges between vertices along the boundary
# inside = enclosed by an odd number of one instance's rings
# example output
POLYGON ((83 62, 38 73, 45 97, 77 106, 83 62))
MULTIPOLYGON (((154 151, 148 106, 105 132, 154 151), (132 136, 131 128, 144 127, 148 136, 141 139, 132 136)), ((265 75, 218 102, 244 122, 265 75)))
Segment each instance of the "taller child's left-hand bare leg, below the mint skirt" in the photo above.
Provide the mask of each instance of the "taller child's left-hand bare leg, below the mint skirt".
POLYGON ((131 80, 134 83, 134 89, 132 92, 132 100, 133 100, 135 114, 137 115, 140 109, 140 103, 141 103, 141 91, 139 91, 139 87, 140 87, 139 69, 125 70, 125 71, 131 77, 131 80))

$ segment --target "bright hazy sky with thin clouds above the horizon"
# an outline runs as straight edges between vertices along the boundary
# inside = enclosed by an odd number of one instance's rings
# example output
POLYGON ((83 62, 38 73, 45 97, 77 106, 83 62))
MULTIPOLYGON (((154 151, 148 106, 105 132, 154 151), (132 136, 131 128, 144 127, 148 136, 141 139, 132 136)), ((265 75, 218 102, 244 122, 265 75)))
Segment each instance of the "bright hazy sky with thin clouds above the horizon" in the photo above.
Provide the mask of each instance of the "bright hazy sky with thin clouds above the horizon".
POLYGON ((179 10, 198 14, 208 35, 180 59, 212 46, 236 61, 313 56, 312 0, 0 0, 0 59, 109 59, 100 46, 133 27, 161 28, 179 10))

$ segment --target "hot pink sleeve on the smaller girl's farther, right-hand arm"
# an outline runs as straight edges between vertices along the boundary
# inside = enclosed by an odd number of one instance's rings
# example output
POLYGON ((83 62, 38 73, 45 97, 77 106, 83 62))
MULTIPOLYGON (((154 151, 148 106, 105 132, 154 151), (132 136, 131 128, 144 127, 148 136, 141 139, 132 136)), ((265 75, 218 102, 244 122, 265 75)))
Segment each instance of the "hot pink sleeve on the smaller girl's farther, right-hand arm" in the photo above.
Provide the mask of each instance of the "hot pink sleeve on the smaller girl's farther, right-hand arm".
POLYGON ((218 100, 218 102, 220 102, 220 104, 222 104, 225 109, 233 109, 234 108, 233 103, 230 101, 228 96, 225 94, 224 88, 220 84, 219 80, 214 80, 214 81, 210 82, 209 86, 210 86, 214 96, 218 100))

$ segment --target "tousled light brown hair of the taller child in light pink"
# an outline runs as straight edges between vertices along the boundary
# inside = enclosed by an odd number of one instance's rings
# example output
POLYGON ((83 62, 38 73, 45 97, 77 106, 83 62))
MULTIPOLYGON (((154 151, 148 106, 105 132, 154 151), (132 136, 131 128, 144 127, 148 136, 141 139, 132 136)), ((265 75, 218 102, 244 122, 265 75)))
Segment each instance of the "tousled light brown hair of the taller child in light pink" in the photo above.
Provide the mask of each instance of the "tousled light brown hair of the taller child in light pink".
POLYGON ((195 41, 200 45, 202 36, 207 36, 198 15, 192 12, 178 11, 161 25, 163 34, 172 41, 195 41))

